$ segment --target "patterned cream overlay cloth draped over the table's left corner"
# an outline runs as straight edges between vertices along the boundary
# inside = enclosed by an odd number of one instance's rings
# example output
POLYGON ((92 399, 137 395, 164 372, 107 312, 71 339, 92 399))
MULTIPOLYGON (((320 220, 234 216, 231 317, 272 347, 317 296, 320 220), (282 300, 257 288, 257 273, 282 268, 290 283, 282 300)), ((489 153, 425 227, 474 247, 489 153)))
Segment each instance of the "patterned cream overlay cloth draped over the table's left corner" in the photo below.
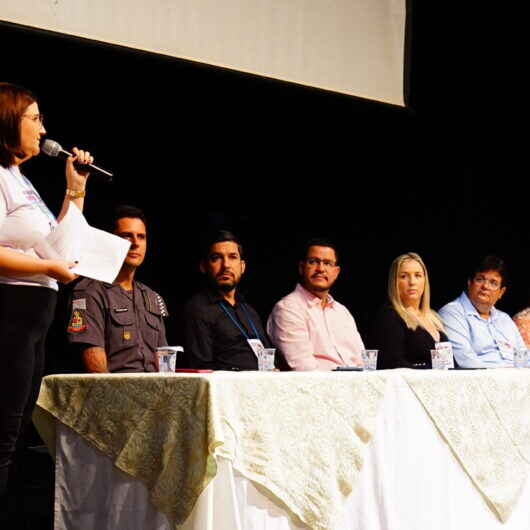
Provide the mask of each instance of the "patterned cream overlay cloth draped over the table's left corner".
POLYGON ((175 525, 215 476, 220 455, 297 522, 339 530, 384 380, 318 372, 60 375, 43 380, 38 407, 143 481, 175 525))

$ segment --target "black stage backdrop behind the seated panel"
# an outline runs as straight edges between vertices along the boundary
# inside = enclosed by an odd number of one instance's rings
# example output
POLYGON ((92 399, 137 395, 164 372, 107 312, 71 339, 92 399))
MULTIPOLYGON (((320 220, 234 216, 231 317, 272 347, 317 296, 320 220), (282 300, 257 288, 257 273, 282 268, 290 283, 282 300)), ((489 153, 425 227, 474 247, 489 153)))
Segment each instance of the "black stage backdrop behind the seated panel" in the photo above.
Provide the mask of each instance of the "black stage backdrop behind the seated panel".
MULTIPOLYGON (((146 211, 138 279, 166 299, 171 344, 212 227, 243 239, 242 288, 264 319, 313 235, 340 245, 334 294, 364 336, 406 251, 426 261, 435 308, 461 292, 470 262, 505 257, 513 286, 499 307, 513 314, 530 301, 514 47, 488 24, 502 27, 498 13, 410 4, 408 108, 9 24, 0 77, 37 94, 50 138, 115 172, 90 183, 92 225, 117 203, 146 211)), ((57 212, 63 164, 40 156, 23 169, 57 212)))

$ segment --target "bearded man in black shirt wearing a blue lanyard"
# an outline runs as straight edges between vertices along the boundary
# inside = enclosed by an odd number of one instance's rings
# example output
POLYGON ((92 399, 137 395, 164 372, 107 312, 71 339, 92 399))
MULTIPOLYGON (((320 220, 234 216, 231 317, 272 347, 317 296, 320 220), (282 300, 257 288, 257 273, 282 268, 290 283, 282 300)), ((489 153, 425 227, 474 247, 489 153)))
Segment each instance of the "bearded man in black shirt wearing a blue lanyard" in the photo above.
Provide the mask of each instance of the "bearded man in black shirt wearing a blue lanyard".
POLYGON ((237 292, 245 261, 234 234, 224 230, 215 234, 205 247, 200 269, 208 286, 184 308, 184 352, 189 366, 257 370, 256 348, 272 344, 259 315, 237 292))

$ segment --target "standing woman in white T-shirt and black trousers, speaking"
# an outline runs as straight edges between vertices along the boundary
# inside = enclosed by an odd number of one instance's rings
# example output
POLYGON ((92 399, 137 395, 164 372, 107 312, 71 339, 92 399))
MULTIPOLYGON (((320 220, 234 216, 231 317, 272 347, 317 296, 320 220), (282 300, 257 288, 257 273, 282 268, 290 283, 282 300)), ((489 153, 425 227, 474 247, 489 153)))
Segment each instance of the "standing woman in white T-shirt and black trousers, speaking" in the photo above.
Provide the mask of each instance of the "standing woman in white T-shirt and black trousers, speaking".
POLYGON ((75 278, 73 263, 41 259, 32 248, 66 214, 81 210, 88 173, 74 162, 91 163, 73 149, 66 161, 66 193, 57 220, 20 172, 39 154, 46 133, 37 101, 28 90, 0 83, 0 512, 7 502, 9 467, 17 441, 31 421, 44 368, 44 343, 55 314, 57 281, 75 278))

